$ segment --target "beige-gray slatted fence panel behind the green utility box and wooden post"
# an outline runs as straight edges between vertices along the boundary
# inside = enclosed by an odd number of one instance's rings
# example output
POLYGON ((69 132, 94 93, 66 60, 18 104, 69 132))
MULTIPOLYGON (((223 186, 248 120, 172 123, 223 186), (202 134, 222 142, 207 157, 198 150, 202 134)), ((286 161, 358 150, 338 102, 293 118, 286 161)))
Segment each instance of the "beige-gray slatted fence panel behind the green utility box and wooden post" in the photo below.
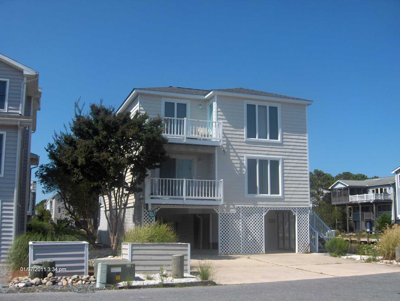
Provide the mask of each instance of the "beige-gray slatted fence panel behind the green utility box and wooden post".
POLYGON ((190 273, 190 243, 122 243, 122 259, 135 264, 136 273, 172 271, 172 255, 184 255, 184 269, 190 273))

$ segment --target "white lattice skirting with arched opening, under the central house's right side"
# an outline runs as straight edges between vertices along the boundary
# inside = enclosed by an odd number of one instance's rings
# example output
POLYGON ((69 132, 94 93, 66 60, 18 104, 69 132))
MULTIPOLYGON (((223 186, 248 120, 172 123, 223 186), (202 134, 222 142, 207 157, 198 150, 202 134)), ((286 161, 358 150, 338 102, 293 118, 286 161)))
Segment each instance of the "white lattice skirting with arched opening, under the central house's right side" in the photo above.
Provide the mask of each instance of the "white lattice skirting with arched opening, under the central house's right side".
POLYGON ((237 206, 236 212, 220 212, 220 254, 264 253, 264 216, 269 210, 291 210, 296 216, 296 253, 309 251, 308 207, 237 206))

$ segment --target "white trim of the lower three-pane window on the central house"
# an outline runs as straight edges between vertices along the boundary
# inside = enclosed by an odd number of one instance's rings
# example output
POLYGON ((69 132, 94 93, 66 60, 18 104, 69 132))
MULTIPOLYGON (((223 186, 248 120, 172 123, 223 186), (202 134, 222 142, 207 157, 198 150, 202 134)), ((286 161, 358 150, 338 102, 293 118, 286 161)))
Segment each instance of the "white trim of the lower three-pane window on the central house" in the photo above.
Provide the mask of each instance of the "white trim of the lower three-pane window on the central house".
MULTIPOLYGON (((283 158, 278 156, 266 156, 266 155, 244 155, 244 196, 245 197, 273 197, 273 198, 282 198, 283 197, 283 158), (247 193, 247 159, 262 159, 262 160, 278 160, 279 161, 279 194, 249 194, 247 193)), ((259 189, 258 186, 258 164, 257 164, 257 191, 259 189)), ((270 164, 268 162, 268 192, 271 191, 270 187, 270 164)))

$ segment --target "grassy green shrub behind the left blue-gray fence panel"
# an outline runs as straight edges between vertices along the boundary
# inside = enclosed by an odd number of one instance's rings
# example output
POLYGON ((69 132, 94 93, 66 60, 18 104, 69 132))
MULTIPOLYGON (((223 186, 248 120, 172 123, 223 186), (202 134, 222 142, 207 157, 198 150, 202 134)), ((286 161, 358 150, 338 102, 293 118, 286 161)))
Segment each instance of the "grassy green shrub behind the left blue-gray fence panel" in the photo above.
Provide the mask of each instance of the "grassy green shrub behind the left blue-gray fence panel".
MULTIPOLYGON (((11 245, 10 253, 8 253, 8 261, 10 261, 10 267, 14 269, 20 269, 21 267, 29 266, 29 242, 30 241, 83 241, 85 240, 84 235, 79 231, 68 229, 68 233, 55 233, 54 228, 50 229, 46 233, 35 233, 27 232, 18 235, 11 245)), ((58 227, 57 227, 58 228, 58 227)), ((58 229, 59 230, 59 229, 58 229)), ((56 231, 58 231, 56 230, 56 231)))

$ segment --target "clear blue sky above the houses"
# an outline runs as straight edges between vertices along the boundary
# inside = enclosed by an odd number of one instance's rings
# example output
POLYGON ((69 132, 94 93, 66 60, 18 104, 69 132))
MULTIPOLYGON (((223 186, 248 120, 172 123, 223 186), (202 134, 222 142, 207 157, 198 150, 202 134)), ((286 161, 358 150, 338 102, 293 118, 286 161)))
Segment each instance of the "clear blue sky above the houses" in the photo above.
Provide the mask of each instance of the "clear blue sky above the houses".
POLYGON ((79 97, 118 107, 134 87, 180 86, 314 100, 311 170, 400 165, 399 1, 82 2, 0 0, 0 52, 40 72, 41 163, 79 97))

